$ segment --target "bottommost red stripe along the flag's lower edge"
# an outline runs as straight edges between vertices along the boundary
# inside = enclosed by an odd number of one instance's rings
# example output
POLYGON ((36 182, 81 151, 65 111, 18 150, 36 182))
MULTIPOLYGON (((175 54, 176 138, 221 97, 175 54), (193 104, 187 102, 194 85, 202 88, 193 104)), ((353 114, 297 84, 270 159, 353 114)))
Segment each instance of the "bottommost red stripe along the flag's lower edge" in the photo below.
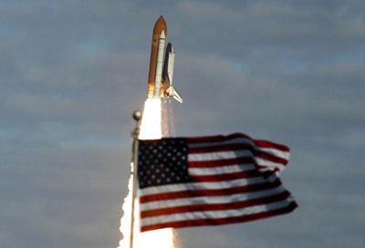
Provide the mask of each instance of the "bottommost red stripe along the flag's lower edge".
POLYGON ((278 210, 270 211, 270 212, 258 212, 238 217, 228 217, 228 218, 217 218, 217 219, 199 219, 199 220, 189 220, 189 221, 179 221, 179 222, 166 222, 166 223, 158 223, 152 225, 141 226, 141 232, 151 231, 160 228, 182 228, 189 226, 203 226, 203 225, 221 225, 221 224, 230 224, 237 222, 251 222, 259 219, 264 219, 280 214, 285 214, 288 212, 292 212, 297 208, 296 202, 291 202, 287 207, 281 208, 278 210))

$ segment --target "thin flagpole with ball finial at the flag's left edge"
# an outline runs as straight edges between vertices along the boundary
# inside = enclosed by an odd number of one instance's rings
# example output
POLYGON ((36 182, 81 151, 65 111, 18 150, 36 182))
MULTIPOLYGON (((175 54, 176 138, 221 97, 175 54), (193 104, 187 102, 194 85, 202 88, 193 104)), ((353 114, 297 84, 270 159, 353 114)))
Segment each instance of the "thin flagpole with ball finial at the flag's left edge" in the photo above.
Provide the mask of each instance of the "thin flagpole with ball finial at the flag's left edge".
POLYGON ((130 248, 133 248, 133 236, 134 236, 134 205, 137 195, 137 164, 138 164, 138 136, 140 134, 140 120, 141 111, 136 110, 132 115, 133 119, 136 121, 136 126, 131 132, 132 141, 132 167, 130 174, 132 176, 132 186, 131 186, 131 214, 130 214, 130 248))

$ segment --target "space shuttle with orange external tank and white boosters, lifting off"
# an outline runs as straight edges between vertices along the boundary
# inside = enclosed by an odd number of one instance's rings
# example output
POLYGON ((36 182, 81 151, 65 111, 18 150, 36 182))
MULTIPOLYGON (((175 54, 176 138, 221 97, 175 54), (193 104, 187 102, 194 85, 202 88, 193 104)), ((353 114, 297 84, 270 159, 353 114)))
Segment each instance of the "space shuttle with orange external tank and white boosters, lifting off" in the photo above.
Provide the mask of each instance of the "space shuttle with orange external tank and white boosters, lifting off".
POLYGON ((183 103, 183 98, 172 86, 175 52, 172 44, 166 46, 167 25, 161 15, 153 26, 148 98, 174 98, 183 103))

